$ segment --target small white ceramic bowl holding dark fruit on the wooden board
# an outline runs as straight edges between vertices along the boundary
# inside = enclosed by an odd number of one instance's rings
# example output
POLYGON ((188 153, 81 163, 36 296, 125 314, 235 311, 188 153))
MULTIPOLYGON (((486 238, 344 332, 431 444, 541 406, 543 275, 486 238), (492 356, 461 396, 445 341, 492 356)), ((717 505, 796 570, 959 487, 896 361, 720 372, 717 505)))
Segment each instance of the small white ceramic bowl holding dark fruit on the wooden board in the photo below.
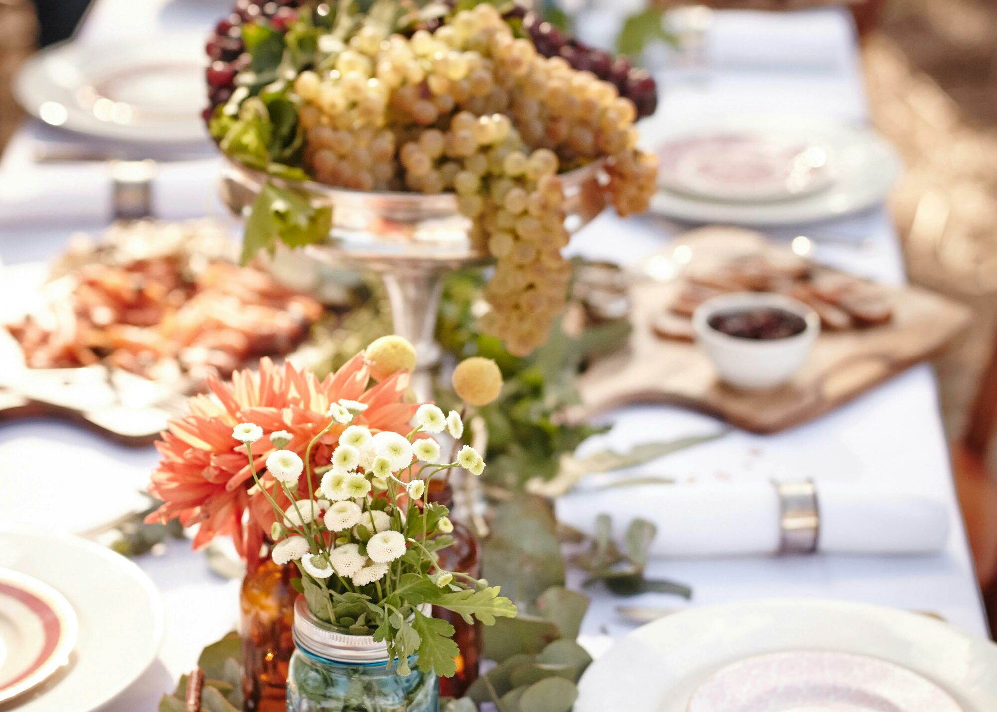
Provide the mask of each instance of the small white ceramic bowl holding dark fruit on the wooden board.
POLYGON ((821 332, 821 319, 809 306, 767 292, 738 292, 708 299, 696 309, 692 322, 697 343, 706 350, 720 377, 735 388, 750 391, 777 388, 793 378, 821 332), (746 339, 710 326, 710 317, 715 314, 759 307, 799 314, 807 327, 781 339, 746 339))

